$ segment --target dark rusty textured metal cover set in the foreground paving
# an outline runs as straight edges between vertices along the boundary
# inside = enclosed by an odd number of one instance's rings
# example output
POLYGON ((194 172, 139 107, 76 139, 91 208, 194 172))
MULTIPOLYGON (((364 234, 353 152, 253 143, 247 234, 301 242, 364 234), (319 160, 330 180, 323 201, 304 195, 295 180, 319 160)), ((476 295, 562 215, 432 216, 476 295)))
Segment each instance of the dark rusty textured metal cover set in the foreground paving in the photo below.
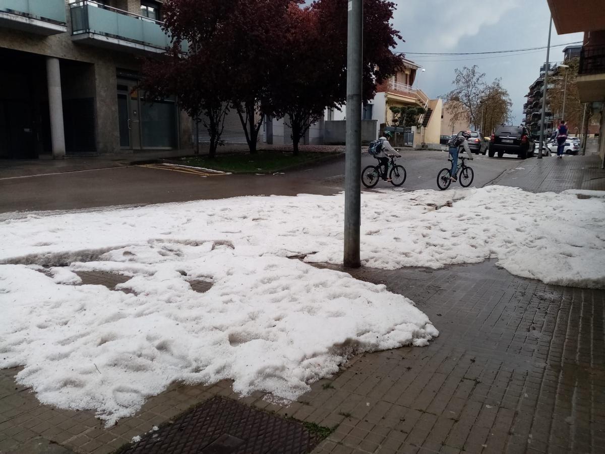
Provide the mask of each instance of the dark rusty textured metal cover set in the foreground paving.
POLYGON ((304 454, 319 441, 298 421, 214 397, 120 454, 304 454))

